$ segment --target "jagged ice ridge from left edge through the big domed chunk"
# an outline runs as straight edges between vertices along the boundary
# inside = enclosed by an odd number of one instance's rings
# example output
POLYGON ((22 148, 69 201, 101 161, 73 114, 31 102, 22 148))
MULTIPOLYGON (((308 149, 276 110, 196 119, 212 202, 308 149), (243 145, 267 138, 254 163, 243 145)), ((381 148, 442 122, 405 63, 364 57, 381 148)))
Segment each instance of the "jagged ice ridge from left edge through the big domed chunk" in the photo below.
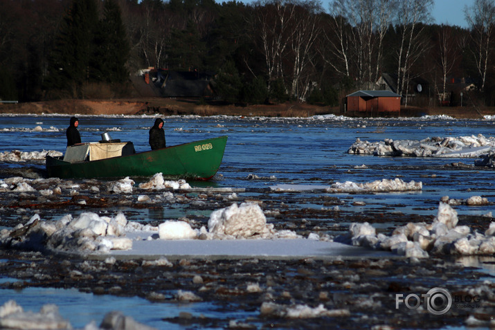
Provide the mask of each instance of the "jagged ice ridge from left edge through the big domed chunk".
MULTIPOLYGON (((26 224, 0 231, 0 246, 55 253, 110 253, 131 250, 127 232, 143 232, 152 239, 276 239, 300 238, 291 230, 274 230, 258 204, 233 203, 210 215, 208 229, 193 229, 186 221, 167 220, 159 226, 127 221, 121 212, 114 217, 82 212, 73 218, 66 214, 56 221, 40 219, 38 214, 26 224), (158 234, 158 235, 156 235, 158 234)), ((141 239, 141 238, 138 238, 141 239)))

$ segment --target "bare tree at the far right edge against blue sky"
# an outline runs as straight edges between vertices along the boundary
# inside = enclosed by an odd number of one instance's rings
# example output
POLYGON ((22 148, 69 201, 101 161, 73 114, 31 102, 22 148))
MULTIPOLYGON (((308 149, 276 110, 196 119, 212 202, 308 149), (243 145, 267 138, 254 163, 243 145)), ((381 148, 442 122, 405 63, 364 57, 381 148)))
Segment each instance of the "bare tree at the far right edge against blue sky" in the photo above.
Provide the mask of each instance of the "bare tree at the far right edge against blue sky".
POLYGON ((473 6, 465 7, 465 17, 471 26, 471 39, 474 47, 471 48, 476 59, 476 68, 480 75, 481 91, 485 89, 488 60, 493 49, 492 33, 495 24, 494 0, 475 0, 473 6))

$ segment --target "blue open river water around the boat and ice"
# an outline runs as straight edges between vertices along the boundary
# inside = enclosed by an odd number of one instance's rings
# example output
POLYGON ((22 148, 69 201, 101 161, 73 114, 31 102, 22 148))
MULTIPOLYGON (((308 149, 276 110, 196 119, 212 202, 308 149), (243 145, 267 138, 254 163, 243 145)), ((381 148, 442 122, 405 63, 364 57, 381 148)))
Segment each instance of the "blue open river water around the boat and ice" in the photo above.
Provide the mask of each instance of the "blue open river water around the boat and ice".
MULTIPOLYGON (((315 221, 318 226, 327 226, 330 235, 339 234, 348 228, 349 220, 322 219, 325 203, 314 192, 269 194, 264 190, 273 185, 330 185, 336 182, 353 181, 366 183, 383 178, 421 181, 421 192, 382 194, 332 194, 339 199, 339 208, 348 214, 368 214, 372 219, 383 214, 397 217, 381 219, 372 223, 384 232, 418 216, 434 217, 438 201, 442 196, 451 199, 467 199, 469 196, 486 197, 490 203, 482 206, 456 206, 458 214, 482 216, 493 211, 495 202, 495 170, 484 167, 451 166, 452 163, 474 165, 473 158, 416 158, 357 156, 347 151, 357 138, 370 142, 414 139, 440 136, 458 137, 483 134, 494 136, 495 120, 454 120, 452 118, 366 118, 351 119, 335 116, 314 118, 242 118, 215 116, 165 117, 167 145, 192 142, 215 136, 228 136, 227 146, 215 180, 190 182, 193 187, 246 188, 245 196, 273 203, 283 203, 289 212, 298 214, 293 220, 268 219, 278 228, 289 227, 289 223, 304 218, 315 221), (362 166, 365 165, 365 166, 362 166), (251 175, 252 174, 252 175, 251 175), (254 176, 254 179, 253 179, 254 176), (360 202, 360 203, 356 203, 360 202), (361 203, 362 202, 362 203, 361 203), (323 223, 323 225, 322 225, 323 223)), ((132 141, 136 152, 149 149, 147 131, 153 125, 152 116, 79 116, 79 131, 83 142, 101 139, 109 131, 111 138, 132 141)), ((56 150, 64 152, 65 129, 69 116, 0 116, 0 152, 56 150), (41 127, 42 129, 35 129, 41 127)), ((44 162, 0 163, 0 179, 8 177, 7 169, 34 167, 43 175, 44 162)), ((111 211, 111 210, 110 210, 111 211)), ((160 221, 163 218, 208 217, 212 210, 196 210, 180 206, 164 210, 128 210, 127 219, 132 221, 160 221)), ((52 217, 59 217, 56 210, 52 217)), ((16 214, 4 217, 15 218, 16 214)), ((0 219, 0 228, 5 226, 0 219)), ((289 227, 290 228, 290 227, 289 227)), ((325 228, 325 227, 324 227, 325 228)), ((2 262, 0 260, 0 262, 2 262)), ((484 266, 492 275, 494 269, 484 266)), ((0 281, 13 281, 3 278, 0 281)), ((7 300, 16 300, 27 310, 37 311, 42 304, 51 302, 60 306, 64 318, 74 327, 96 320, 109 310, 120 310, 139 322, 160 329, 184 329, 177 324, 164 323, 164 314, 174 315, 178 311, 191 311, 210 317, 218 317, 215 304, 208 302, 188 306, 154 304, 138 297, 98 296, 79 293, 74 289, 25 288, 22 291, 0 291, 0 305, 7 300), (111 306, 111 309, 104 307, 111 306), (161 318, 157 318, 157 314, 161 318)), ((222 311, 225 314, 225 311, 222 311)), ((231 311, 222 318, 234 318, 237 314, 249 317, 250 311, 231 311)))

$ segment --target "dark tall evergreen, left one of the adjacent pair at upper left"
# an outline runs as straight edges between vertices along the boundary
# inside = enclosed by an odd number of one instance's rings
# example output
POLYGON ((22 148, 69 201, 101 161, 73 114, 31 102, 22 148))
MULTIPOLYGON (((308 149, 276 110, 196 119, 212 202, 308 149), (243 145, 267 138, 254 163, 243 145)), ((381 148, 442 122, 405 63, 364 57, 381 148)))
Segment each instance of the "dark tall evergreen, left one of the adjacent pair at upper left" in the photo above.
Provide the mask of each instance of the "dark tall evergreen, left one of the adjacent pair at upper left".
POLYGON ((73 89, 72 96, 78 96, 82 84, 89 80, 96 26, 98 26, 96 1, 73 0, 71 8, 62 21, 55 49, 51 53, 48 88, 73 89))

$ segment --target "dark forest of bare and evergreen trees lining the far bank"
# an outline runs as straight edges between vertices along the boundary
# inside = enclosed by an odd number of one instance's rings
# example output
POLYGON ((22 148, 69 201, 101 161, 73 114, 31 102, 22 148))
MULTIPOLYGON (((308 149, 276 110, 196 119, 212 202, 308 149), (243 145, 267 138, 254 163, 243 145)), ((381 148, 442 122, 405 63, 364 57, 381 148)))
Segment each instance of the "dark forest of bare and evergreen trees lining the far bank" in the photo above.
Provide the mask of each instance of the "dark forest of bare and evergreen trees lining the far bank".
POLYGON ((388 77, 403 104, 494 106, 494 0, 463 9, 468 28, 435 24, 432 6, 1 0, 0 100, 129 98, 129 77, 152 67, 209 73, 229 103, 336 106, 388 77))

